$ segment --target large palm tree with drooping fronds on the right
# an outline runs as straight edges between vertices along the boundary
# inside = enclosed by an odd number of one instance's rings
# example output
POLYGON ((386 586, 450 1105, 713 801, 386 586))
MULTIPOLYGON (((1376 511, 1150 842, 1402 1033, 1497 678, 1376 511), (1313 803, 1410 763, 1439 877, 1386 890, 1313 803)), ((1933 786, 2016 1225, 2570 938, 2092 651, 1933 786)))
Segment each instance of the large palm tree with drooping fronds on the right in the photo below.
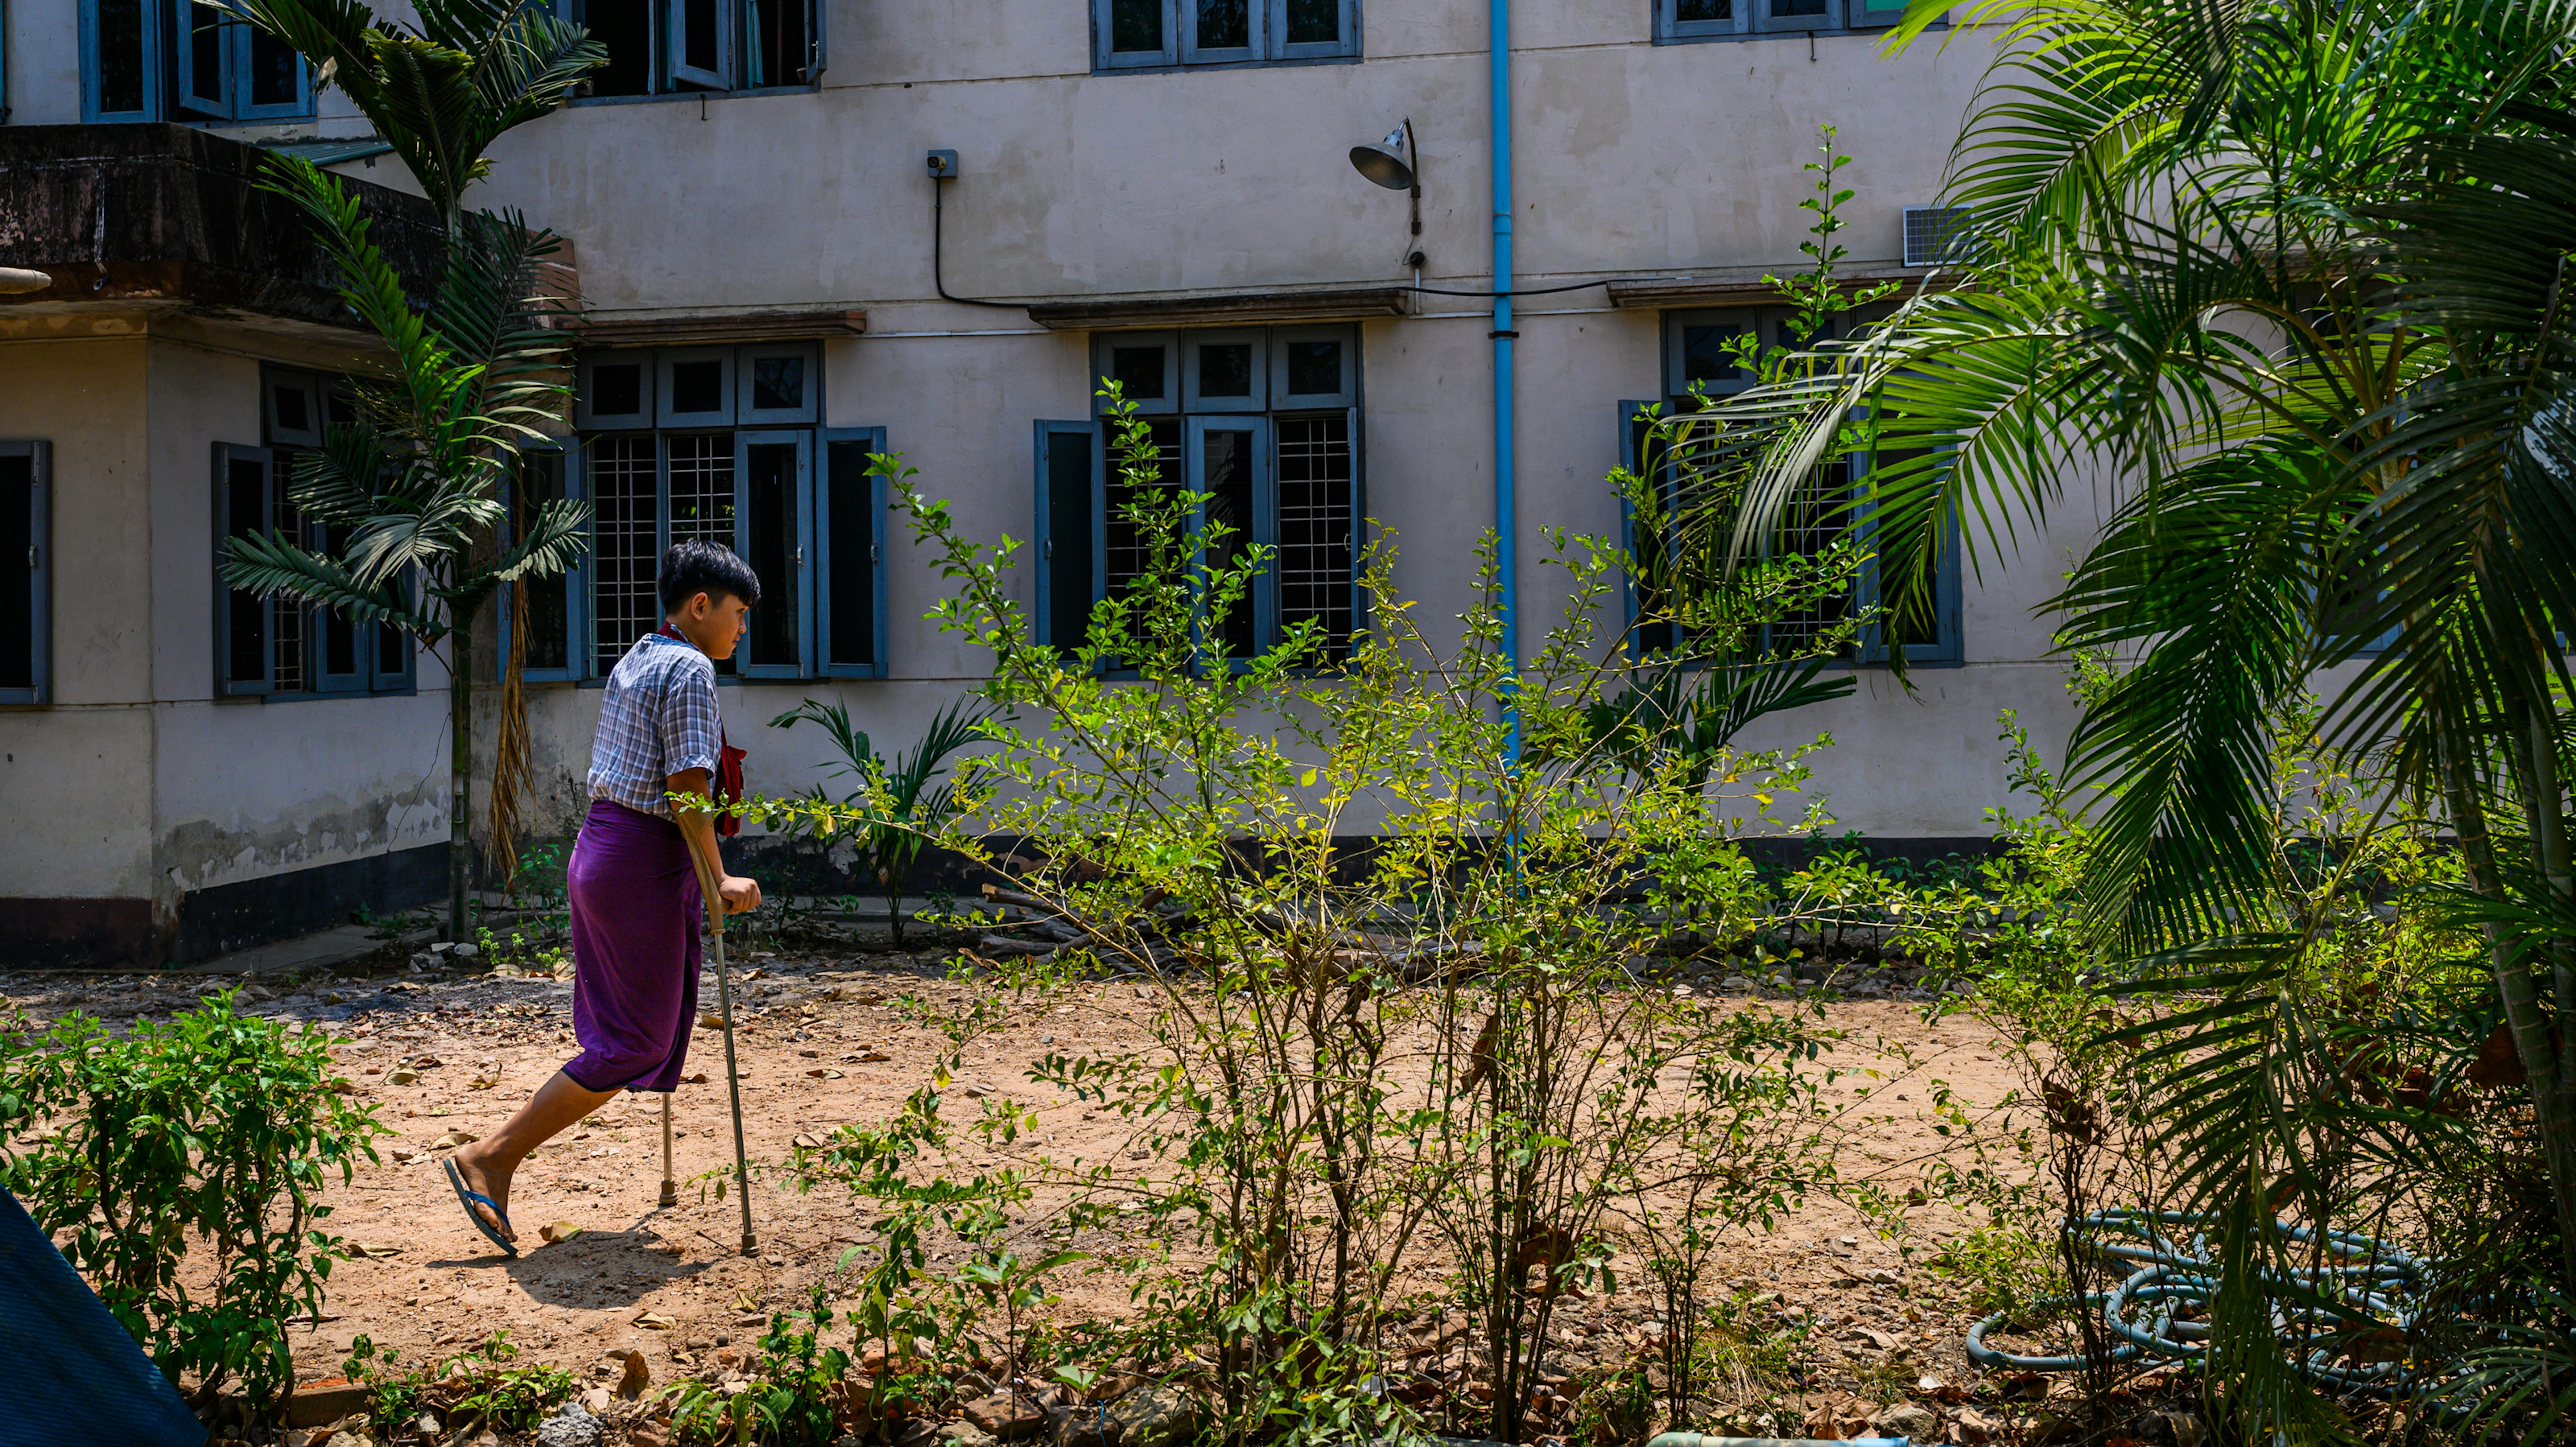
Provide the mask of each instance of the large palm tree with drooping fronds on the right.
MULTIPOLYGON (((1940 10, 1917 3, 1891 46, 1940 10)), ((2254 1267, 2287 1251, 2275 1205, 2324 1202, 2329 1133, 2403 1151, 2439 1130, 2360 1110, 2329 1022, 2285 984, 2324 922, 2287 906, 2269 762, 2280 729, 2313 726, 2460 837, 2458 917, 2488 932, 2545 1148, 2545 1254, 2576 1287, 2576 3, 1981 0, 1968 18, 1999 21, 2002 51, 1945 185, 1955 275, 1728 402, 1759 443, 1744 494, 1780 497, 1865 415, 1880 456, 1911 458, 1865 499, 1906 618, 1929 610, 1945 520, 2009 554, 2069 479, 2107 474, 2115 515, 2053 608, 2066 649, 2123 667, 2069 775, 2097 790, 2099 950, 2215 991, 2138 1032, 2161 1035, 2141 1061, 2182 1184, 2254 1267), (2321 716, 2295 708, 2354 662, 2321 716)), ((1700 525, 1747 556, 1775 515, 1700 525)), ((2231 1401, 2342 1432, 2282 1372, 2267 1311, 2254 1290, 2218 1303, 2215 1354, 2249 1388, 2231 1401)))

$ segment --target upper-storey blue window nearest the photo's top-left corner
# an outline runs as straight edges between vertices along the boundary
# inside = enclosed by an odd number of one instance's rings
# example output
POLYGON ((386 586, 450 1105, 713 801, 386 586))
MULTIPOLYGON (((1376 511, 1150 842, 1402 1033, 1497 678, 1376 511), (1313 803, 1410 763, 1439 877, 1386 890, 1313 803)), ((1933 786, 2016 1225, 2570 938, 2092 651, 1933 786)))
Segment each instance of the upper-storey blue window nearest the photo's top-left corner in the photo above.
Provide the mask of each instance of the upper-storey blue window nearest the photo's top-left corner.
POLYGON ((309 121, 294 46, 198 0, 80 0, 82 121, 309 121))

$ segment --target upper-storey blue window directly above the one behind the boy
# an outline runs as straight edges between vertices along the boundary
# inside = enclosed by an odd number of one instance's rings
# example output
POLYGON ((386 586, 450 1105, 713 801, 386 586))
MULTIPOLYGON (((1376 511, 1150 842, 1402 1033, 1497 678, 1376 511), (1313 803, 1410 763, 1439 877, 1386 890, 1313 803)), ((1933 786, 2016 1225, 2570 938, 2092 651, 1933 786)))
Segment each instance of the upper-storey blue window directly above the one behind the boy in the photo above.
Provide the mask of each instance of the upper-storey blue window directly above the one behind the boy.
POLYGON ((801 90, 822 80, 819 0, 559 0, 608 64, 582 98, 801 90))

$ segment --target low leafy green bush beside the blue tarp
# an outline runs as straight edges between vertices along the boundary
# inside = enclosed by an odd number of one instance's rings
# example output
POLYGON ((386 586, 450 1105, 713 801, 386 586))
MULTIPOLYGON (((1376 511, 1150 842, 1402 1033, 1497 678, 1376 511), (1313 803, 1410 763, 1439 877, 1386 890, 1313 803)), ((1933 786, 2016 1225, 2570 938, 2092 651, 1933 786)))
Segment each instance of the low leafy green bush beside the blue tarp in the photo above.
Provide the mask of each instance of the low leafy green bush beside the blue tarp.
POLYGON ((85 1014, 41 1035, 15 1020, 5 1045, 0 1184, 165 1377, 273 1401, 294 1383, 286 1321, 319 1313, 348 1259, 317 1197, 389 1133, 335 1092, 327 1038, 240 1014, 224 991, 129 1035, 85 1014), (21 1133, 33 1141, 8 1146, 21 1133))

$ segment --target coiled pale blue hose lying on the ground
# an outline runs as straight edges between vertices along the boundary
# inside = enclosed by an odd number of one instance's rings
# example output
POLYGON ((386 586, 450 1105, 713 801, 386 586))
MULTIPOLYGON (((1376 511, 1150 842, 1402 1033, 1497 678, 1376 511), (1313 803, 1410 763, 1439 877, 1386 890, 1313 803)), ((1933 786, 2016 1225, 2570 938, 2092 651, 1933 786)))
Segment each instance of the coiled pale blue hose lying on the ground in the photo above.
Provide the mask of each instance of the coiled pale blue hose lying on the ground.
MULTIPOLYGON (((2107 1293, 2084 1298, 2084 1311, 2099 1311, 2102 1326, 2115 1339, 2112 1362, 2192 1362, 2208 1354, 2208 1311, 2223 1280, 2205 1231, 2213 1223, 2210 1215, 2179 1210, 2099 1210, 2069 1220, 2069 1231, 2081 1236, 2092 1254, 2138 1267, 2107 1293), (2187 1238, 2182 1238, 2184 1233, 2187 1238)), ((2424 1264, 2357 1231, 2318 1233, 2287 1220, 2277 1220, 2275 1231, 2290 1241, 2321 1246, 2326 1264, 2264 1267, 2264 1285, 2329 1295, 2339 1303, 2339 1311, 2303 1303, 2272 1308, 2272 1331, 2285 1347, 2329 1341, 2329 1347, 2293 1354, 2290 1365, 2308 1380, 2342 1393, 2401 1396, 2414 1390, 2419 1383, 2411 1380, 2403 1362, 2352 1362, 2347 1357, 2357 1318, 2378 1321, 2398 1334, 2416 1326, 2427 1287, 2424 1264)), ((2048 1298, 2038 1305, 2063 1308, 2071 1305, 2071 1298, 2048 1298)), ((2009 1318, 2012 1313, 1996 1313, 1968 1329, 1971 1362, 2020 1372, 2079 1372, 2087 1367, 2081 1354, 2022 1357, 1989 1347, 1986 1334, 2009 1318)))

